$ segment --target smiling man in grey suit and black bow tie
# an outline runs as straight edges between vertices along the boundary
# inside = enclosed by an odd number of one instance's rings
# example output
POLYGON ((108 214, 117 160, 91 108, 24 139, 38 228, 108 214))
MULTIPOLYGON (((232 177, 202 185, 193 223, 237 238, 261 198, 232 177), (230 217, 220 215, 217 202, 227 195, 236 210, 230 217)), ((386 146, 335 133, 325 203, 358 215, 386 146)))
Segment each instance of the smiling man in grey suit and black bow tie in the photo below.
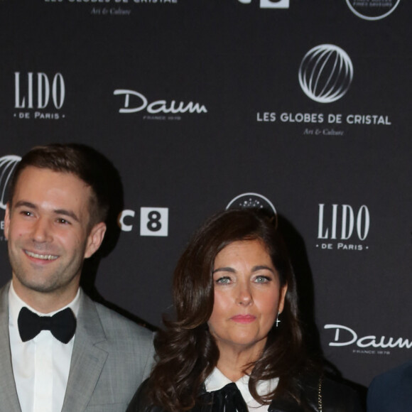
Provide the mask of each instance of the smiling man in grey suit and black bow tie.
POLYGON ((88 298, 84 259, 102 244, 109 197, 90 153, 38 146, 11 182, 0 291, 0 411, 125 411, 153 362, 152 334, 88 298))

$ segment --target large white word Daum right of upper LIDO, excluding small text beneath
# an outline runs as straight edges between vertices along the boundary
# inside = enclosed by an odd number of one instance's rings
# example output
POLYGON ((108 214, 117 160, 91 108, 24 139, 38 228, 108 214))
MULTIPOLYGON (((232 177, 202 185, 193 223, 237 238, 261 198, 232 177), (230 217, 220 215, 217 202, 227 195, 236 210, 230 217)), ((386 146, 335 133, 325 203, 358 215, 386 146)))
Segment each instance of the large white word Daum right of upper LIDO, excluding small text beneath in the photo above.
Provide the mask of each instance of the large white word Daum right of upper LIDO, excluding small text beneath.
POLYGON ((169 103, 166 100, 156 100, 149 103, 143 94, 125 89, 116 89, 113 94, 124 96, 123 107, 119 109, 119 113, 136 113, 145 109, 150 114, 207 113, 206 107, 200 103, 184 103, 175 100, 169 103))

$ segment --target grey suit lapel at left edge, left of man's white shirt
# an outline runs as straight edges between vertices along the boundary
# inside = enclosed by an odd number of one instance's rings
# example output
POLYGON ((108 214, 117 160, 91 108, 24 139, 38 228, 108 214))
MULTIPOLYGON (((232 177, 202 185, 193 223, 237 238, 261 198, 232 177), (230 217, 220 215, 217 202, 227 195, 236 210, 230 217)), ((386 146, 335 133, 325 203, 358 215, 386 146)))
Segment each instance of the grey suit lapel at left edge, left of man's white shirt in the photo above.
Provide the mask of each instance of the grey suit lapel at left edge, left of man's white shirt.
POLYGON ((9 287, 0 290, 0 399, 1 410, 21 412, 11 364, 9 338, 9 287))

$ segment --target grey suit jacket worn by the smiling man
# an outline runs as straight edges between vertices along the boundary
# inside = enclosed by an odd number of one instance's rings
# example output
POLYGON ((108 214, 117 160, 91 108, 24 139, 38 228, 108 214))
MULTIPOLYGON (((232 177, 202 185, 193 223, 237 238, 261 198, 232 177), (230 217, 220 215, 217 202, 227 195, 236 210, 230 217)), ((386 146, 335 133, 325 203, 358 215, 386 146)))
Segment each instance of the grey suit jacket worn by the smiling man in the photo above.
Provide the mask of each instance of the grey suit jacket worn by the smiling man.
MULTIPOLYGON (((0 290, 0 412, 21 412, 9 340, 9 283, 0 290)), ((153 334, 82 293, 62 412, 124 412, 153 364, 153 334)))

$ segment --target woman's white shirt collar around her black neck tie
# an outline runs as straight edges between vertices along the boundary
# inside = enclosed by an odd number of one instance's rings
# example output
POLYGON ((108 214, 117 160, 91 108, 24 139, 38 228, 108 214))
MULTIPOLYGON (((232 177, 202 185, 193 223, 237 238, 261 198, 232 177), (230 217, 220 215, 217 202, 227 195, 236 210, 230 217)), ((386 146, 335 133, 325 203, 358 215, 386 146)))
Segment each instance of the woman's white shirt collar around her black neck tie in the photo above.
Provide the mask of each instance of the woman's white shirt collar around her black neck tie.
MULTIPOLYGON (((259 381, 256 388, 257 393, 260 396, 269 394, 269 392, 274 391, 276 389, 276 386, 278 386, 278 381, 278 378, 271 379, 269 381, 259 381)), ((229 378, 224 376, 224 374, 222 374, 222 372, 220 372, 219 369, 215 367, 212 373, 209 376, 207 376, 205 380, 206 391, 218 391, 219 389, 222 389, 224 386, 230 384, 231 382, 232 381, 229 378)), ((239 389, 240 393, 242 394, 242 397, 246 402, 249 411, 267 412, 269 410, 269 405, 262 405, 261 403, 256 401, 253 396, 251 396, 248 387, 248 375, 242 376, 242 378, 240 378, 239 381, 236 381, 234 383, 236 384, 237 389, 239 389)))

